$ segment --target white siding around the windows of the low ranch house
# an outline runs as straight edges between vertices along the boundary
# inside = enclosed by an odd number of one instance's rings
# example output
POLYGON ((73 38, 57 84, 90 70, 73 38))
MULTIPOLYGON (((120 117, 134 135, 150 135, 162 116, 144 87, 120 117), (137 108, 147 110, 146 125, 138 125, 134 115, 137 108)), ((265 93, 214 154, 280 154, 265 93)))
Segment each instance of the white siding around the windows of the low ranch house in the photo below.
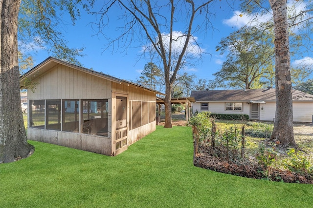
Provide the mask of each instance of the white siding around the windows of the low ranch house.
MULTIPOLYGON (((225 111, 225 102, 203 102, 203 103, 209 103, 209 112, 211 113, 220 113, 220 114, 247 114, 250 115, 250 108, 249 105, 246 102, 243 103, 243 111, 225 111)), ((198 110, 198 112, 202 112, 201 110, 201 102, 193 103, 193 113, 195 113, 198 110)), ((204 111, 204 112, 208 112, 204 111)))

